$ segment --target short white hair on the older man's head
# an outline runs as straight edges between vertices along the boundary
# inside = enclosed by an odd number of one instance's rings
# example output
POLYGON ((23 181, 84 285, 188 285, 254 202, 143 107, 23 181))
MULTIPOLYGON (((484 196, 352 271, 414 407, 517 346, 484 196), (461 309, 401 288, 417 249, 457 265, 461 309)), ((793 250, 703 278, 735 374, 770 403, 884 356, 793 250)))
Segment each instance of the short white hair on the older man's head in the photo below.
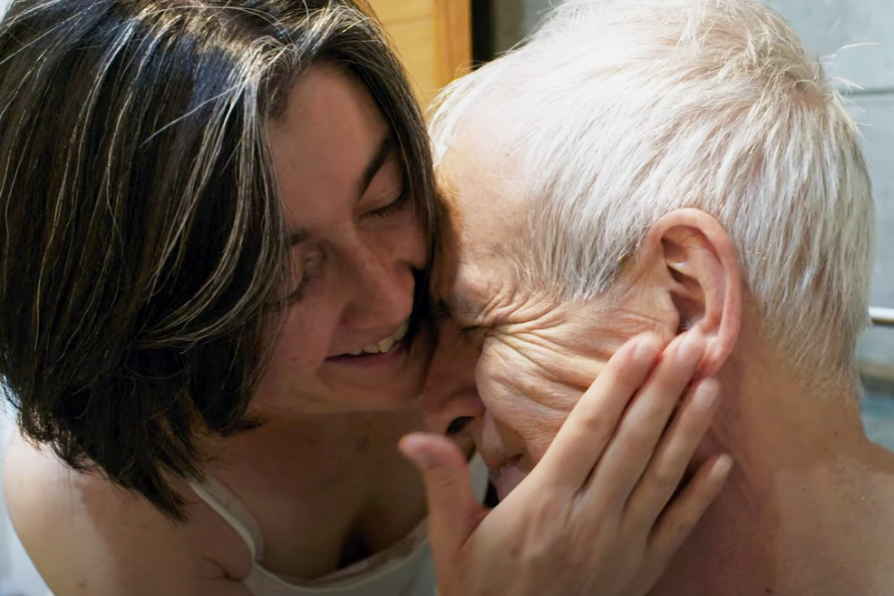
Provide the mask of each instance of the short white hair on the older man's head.
POLYGON ((873 207, 860 133, 821 64, 749 0, 571 0, 435 104, 440 161, 470 112, 512 119, 533 242, 559 298, 605 293, 666 212, 729 231, 763 332, 813 373, 851 370, 873 207))

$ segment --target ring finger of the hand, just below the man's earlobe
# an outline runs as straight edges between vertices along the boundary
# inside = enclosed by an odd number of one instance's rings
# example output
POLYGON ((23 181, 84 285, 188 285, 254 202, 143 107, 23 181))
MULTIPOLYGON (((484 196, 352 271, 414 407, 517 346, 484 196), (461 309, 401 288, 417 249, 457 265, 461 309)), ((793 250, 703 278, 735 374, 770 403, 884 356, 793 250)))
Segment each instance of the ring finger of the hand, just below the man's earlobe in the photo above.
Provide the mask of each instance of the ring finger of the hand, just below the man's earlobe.
POLYGON ((641 532, 652 529, 711 425, 719 391, 715 379, 699 381, 690 389, 627 502, 625 517, 631 527, 641 532))

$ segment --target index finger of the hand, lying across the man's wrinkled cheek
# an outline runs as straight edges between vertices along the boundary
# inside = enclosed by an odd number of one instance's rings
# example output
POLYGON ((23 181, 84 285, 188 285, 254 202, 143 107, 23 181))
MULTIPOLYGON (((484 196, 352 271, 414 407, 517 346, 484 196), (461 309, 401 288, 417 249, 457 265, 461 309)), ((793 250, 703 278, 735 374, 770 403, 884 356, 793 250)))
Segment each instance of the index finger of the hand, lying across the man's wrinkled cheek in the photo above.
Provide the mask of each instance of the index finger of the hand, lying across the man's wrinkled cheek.
POLYGON ((568 415, 530 474, 531 483, 567 486, 576 493, 587 482, 630 397, 646 380, 660 349, 657 337, 645 335, 617 350, 568 415))

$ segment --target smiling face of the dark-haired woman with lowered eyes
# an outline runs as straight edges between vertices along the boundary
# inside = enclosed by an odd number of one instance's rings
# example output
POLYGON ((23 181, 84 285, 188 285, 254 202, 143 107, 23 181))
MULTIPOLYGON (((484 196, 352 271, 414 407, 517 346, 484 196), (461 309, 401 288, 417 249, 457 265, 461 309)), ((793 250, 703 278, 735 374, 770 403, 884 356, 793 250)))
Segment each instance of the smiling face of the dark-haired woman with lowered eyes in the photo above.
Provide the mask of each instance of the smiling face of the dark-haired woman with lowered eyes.
POLYGON ((428 242, 390 127, 363 83, 316 66, 268 134, 294 287, 254 404, 268 414, 408 405, 431 356, 421 337, 403 337, 428 242))

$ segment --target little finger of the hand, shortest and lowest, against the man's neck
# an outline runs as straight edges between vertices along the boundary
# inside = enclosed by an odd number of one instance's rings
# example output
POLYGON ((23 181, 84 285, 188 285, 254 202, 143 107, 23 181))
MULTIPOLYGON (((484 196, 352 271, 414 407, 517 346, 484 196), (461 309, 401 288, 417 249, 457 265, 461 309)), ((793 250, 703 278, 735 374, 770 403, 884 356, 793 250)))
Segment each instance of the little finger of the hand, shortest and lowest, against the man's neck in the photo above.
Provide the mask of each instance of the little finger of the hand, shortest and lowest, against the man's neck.
POLYGON ((649 539, 649 565, 664 569, 724 488, 733 468, 733 458, 717 455, 702 464, 656 523, 649 539))

